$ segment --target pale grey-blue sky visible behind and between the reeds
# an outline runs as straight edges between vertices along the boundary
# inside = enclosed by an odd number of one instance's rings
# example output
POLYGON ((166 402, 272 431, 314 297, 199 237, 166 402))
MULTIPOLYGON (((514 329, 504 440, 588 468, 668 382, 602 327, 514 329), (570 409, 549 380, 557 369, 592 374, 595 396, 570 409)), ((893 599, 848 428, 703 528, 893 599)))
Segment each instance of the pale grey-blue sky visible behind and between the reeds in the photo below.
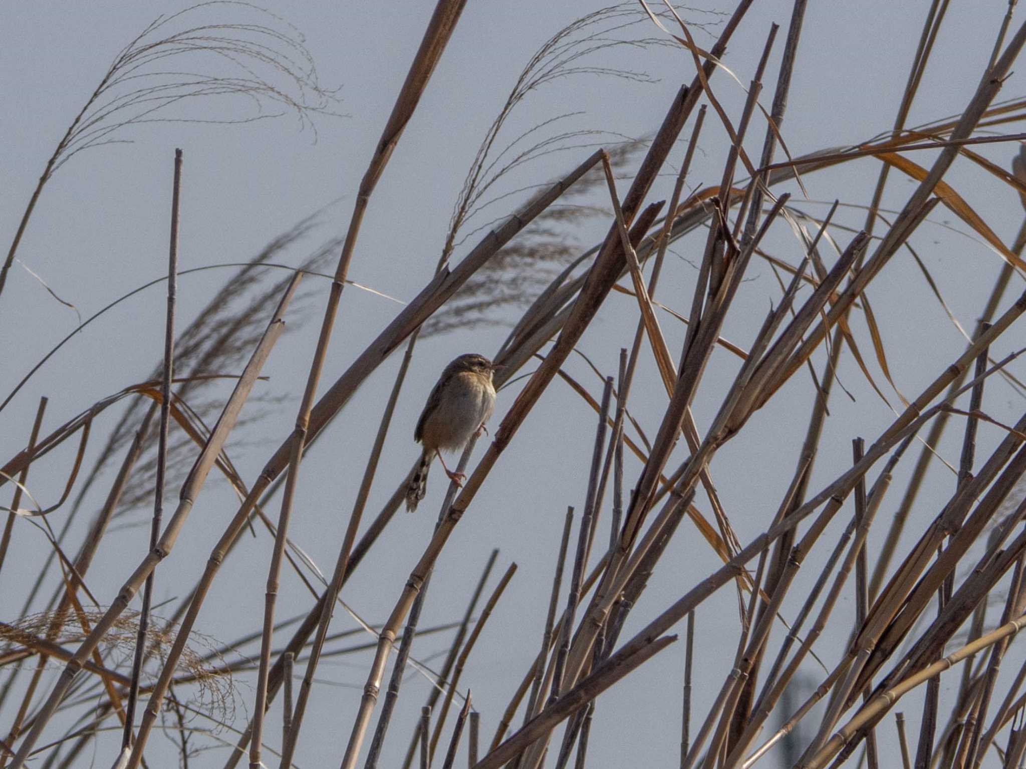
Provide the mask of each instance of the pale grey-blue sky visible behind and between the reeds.
MULTIPOLYGON (((52 148, 111 58, 156 13, 185 7, 186 4, 176 3, 126 2, 88 5, 35 2, 5 7, 0 24, 0 70, 6 75, 0 85, 5 106, 0 114, 0 146, 4 148, 0 194, 3 237, 9 240, 13 236, 52 148)), ((434 269, 452 203, 477 146, 523 65, 556 30, 598 7, 583 0, 559 4, 485 0, 468 3, 374 194, 352 262, 353 280, 401 299, 420 290, 434 269)), ((728 11, 731 7, 718 3, 706 10, 728 11)), ((793 155, 857 143, 891 128, 926 7, 925 2, 811 3, 783 124, 783 135, 793 155)), ((952 4, 923 78, 920 96, 913 106, 910 125, 961 111, 976 88, 1005 9, 1007 3, 999 0, 952 4)), ((324 213, 324 224, 317 234, 289 252, 292 264, 298 262, 322 240, 344 234, 359 178, 430 10, 430 3, 306 2, 276 7, 275 12, 295 25, 305 36, 321 84, 341 86, 338 109, 344 116, 315 117, 316 141, 312 131, 299 130, 291 116, 239 126, 174 123, 131 129, 123 137, 133 139, 133 144, 83 153, 54 176, 43 192, 18 257, 58 295, 74 303, 83 317, 161 275, 166 270, 171 159, 173 149, 181 147, 185 151, 182 269, 245 260, 297 220, 339 200, 324 213)), ((771 23, 781 25, 761 97, 767 110, 790 10, 791 4, 783 0, 756 2, 725 57, 726 66, 747 85, 771 23)), ((204 22, 259 18, 231 5, 203 13, 204 22)), ((693 11, 687 11, 685 17, 712 23, 717 18, 710 12, 693 11)), ((1014 25, 1018 21, 1021 19, 1015 19, 1014 25)), ((635 29, 638 36, 665 38, 647 24, 635 29)), ((716 28, 710 32, 717 34, 716 28)), ((712 39, 699 32, 697 42, 707 46, 712 39)), ((575 128, 645 135, 662 121, 680 82, 690 82, 694 74, 690 56, 672 47, 617 48, 595 63, 645 71, 657 82, 636 83, 592 75, 554 82, 523 104, 511 121, 506 140, 554 114, 576 111, 585 114, 568 121, 567 125, 575 128)), ((742 88, 723 74, 716 75, 713 87, 732 119, 737 121, 744 99, 742 88)), ((1023 90, 1024 76, 1017 72, 999 97, 1018 96, 1023 90)), ((184 114, 202 117, 204 110, 220 110, 218 114, 223 115, 225 109, 215 105, 197 106, 184 114)), ((240 111, 229 112, 230 115, 243 114, 244 103, 236 103, 230 109, 240 111)), ((758 155, 764 129, 764 122, 756 118, 746 144, 753 157, 758 155)), ((682 135, 688 135, 689 131, 690 124, 682 135)), ((718 183, 725 148, 723 128, 710 110, 689 186, 718 183)), ((1017 149, 1000 145, 981 149, 981 153, 1008 167, 1017 149)), ((679 166, 683 150, 681 141, 665 169, 667 175, 661 178, 650 199, 669 196, 673 180, 670 172, 679 166)), ((576 165, 589 152, 581 149, 547 156, 498 191, 510 192, 550 179, 576 165)), ((929 165, 928 158, 923 155, 918 160, 929 165)), ((830 172, 810 174, 805 186, 810 198, 816 202, 802 200, 796 188, 792 190, 796 193, 794 202, 816 215, 825 213, 827 204, 835 197, 840 197, 843 203, 864 205, 870 198, 877 170, 877 161, 866 159, 830 172)), ((892 173, 891 179, 884 206, 900 207, 914 188, 900 174, 892 173)), ((948 180, 985 212, 988 224, 1011 243, 1023 215, 1018 197, 964 162, 956 164, 948 180)), ((514 196, 498 204, 494 215, 512 210, 519 199, 514 196)), ((594 202, 604 204, 600 196, 594 202)), ((838 219, 859 228, 864 213, 859 209, 842 209, 838 219)), ((945 222, 962 232, 966 229, 946 209, 938 208, 912 243, 929 264, 952 311, 963 326, 972 328, 999 262, 978 241, 945 229, 945 222)), ((580 243, 585 247, 591 245, 602 237, 605 227, 605 220, 592 222, 580 233, 580 243)), ((850 238, 844 233, 837 233, 836 237, 842 245, 850 238)), ((693 236, 673 248, 681 257, 697 260, 703 243, 704 236, 693 236)), ((796 241, 782 224, 775 225, 766 243, 776 255, 792 262, 798 260, 796 241)), ((460 258, 467 247, 458 250, 456 257, 460 258)), ((334 258, 329 264, 333 266, 334 258)), ((230 271, 211 271, 180 281, 182 325, 192 319, 220 287, 220 281, 230 274, 230 271)), ((724 335, 742 347, 750 342, 768 301, 779 296, 765 262, 753 262, 750 274, 752 280, 745 285, 724 329, 724 335)), ((675 310, 685 310, 693 281, 694 270, 687 261, 671 257, 659 295, 675 310)), ((270 452, 287 436, 294 419, 327 282, 310 279, 305 287, 317 291, 307 302, 308 320, 300 332, 282 339, 266 369, 270 381, 259 386, 264 389, 262 394, 281 398, 281 403, 233 436, 237 445, 229 444, 233 459, 247 482, 255 478, 270 452)), ((1019 283, 1014 284, 1002 308, 1021 289, 1019 283)), ((873 284, 871 296, 877 319, 885 329, 892 372, 906 395, 917 394, 962 349, 963 341, 907 254, 893 260, 887 273, 873 284)), ((3 458, 24 444, 39 396, 50 398, 44 424, 44 432, 48 432, 96 400, 145 378, 156 363, 155 351, 161 346, 163 300, 162 289, 155 287, 122 303, 47 363, 0 413, 3 458)), ((268 313, 270 310, 269 307, 268 313)), ((322 381, 332 381, 395 312, 396 306, 386 299, 346 290, 322 381)), ((620 347, 629 346, 633 336, 636 314, 637 308, 630 297, 614 293, 582 339, 581 349, 603 371, 615 372, 620 347)), ((513 316, 507 313, 503 317, 509 320, 513 316)), ((661 321, 670 350, 676 356, 683 338, 682 328, 665 316, 661 321)), ((3 328, 0 351, 5 364, 0 373, 0 397, 6 397, 24 373, 77 322, 72 310, 55 303, 26 270, 15 265, 6 290, 0 295, 3 328)), ((856 331, 864 352, 871 350, 865 326, 859 325, 856 331)), ((506 333, 504 327, 479 326, 430 338, 418 347, 386 443, 368 516, 377 514, 418 455, 411 440, 412 424, 444 364, 463 352, 490 355, 506 333)), ((1021 336, 1021 328, 1014 329, 1013 334, 1021 336)), ((998 356, 1011 351, 1013 334, 995 351, 998 356)), ((821 360, 822 356, 818 358, 818 370, 822 367, 821 360)), ((333 565, 363 472, 363 458, 398 363, 396 357, 381 367, 304 461, 303 485, 290 535, 322 571, 329 573, 333 565)), ((736 365, 736 359, 729 355, 714 356, 695 406, 700 430, 718 406, 722 388, 729 381, 736 365)), ((597 397, 600 387, 582 360, 571 358, 567 368, 591 387, 597 397)), ((878 381, 883 381, 877 368, 873 368, 873 373, 878 381)), ((862 378, 851 356, 844 358, 840 378, 856 402, 843 392, 834 394, 814 490, 849 464, 853 437, 862 435, 872 441, 893 418, 862 378)), ((652 436, 665 405, 665 393, 647 348, 642 351, 635 381, 632 411, 652 436)), ((500 394, 494 424, 512 400, 513 393, 500 394)), ((896 398, 892 402, 897 405, 896 398)), ((793 471, 810 403, 807 376, 796 376, 770 407, 752 419, 746 428, 748 440, 728 443, 716 456, 712 475, 743 543, 762 531, 776 511, 793 471)), ((1021 413, 1022 400, 1005 385, 995 381, 988 393, 986 408, 997 418, 1014 419, 1021 413)), ((114 416, 107 414, 97 421, 94 427, 97 435, 102 436, 113 423, 114 416)), ((583 507, 593 430, 593 412, 564 385, 555 381, 503 454, 438 563, 423 624, 449 621, 462 614, 472 584, 492 548, 501 549, 492 583, 511 560, 519 565, 464 674, 463 686, 473 689, 474 704, 481 712, 482 739, 490 739, 502 709, 540 643, 558 532, 566 505, 583 507)), ((981 454, 999 438, 996 431, 981 429, 981 454)), ((955 431, 949 431, 944 446, 944 455, 949 460, 957 456, 956 440, 955 431)), ((98 445, 94 438, 91 448, 98 445)), ((478 453, 481 450, 478 448, 478 453)), ((671 466, 683 458, 680 451, 678 448, 679 456, 671 459, 671 466)), ((54 452, 45 467, 33 468, 29 486, 38 492, 44 504, 57 497, 70 459, 68 446, 54 452)), ((628 487, 636 479, 639 467, 629 459, 625 479, 628 487)), ((895 489, 902 488, 907 471, 908 468, 899 470, 895 489)), ((420 557, 441 500, 440 478, 436 474, 432 479, 429 496, 416 516, 396 518, 373 557, 347 586, 344 598, 368 621, 386 617, 420 557)), ((91 510, 102 503, 109 482, 110 477, 105 477, 91 493, 82 521, 73 527, 71 550, 77 549, 76 537, 84 531, 91 510)), ((947 498, 954 479, 935 466, 929 482, 932 487, 920 497, 909 526, 912 531, 931 520, 937 504, 947 498)), ((168 491, 168 500, 174 499, 176 489, 168 491)), ((880 521, 887 520, 887 512, 893 512, 899 499, 899 493, 893 491, 884 502, 884 508, 889 502, 891 507, 881 510, 880 521)), ((708 502, 701 495, 697 503, 708 511, 708 502)), ((181 596, 183 591, 177 585, 191 584, 199 575, 212 543, 233 512, 233 495, 227 484, 211 478, 172 557, 158 571, 156 601, 181 596), (176 585, 173 589, 172 583, 176 585)), ((268 511, 274 517, 277 512, 276 503, 268 511)), ((148 515, 145 510, 134 513, 132 520, 139 521, 140 526, 112 534, 97 556, 87 581, 102 604, 113 599, 117 588, 143 557, 148 536, 148 525, 143 523, 148 515)), ((51 519, 55 527, 63 523, 61 512, 51 519)), ((835 522, 838 533, 844 522, 846 518, 835 522)), ((40 532, 23 524, 18 521, 15 527, 14 547, 0 577, 3 579, 0 619, 5 621, 12 618, 24 600, 26 588, 21 584, 24 575, 32 574, 46 553, 47 545, 40 532)), ((882 526, 872 532, 871 547, 878 543, 884 531, 882 526)), ((603 528, 603 537, 606 533, 603 528)), ((903 541, 907 543, 908 539, 906 536, 903 541)), ((197 625, 200 632, 228 640, 258 626, 269 554, 270 539, 263 534, 256 540, 245 540, 214 583, 197 625)), ((822 554, 814 553, 806 562, 807 573, 803 570, 799 579, 811 579, 822 558, 822 554)), ((684 523, 649 590, 632 613, 625 638, 716 565, 715 556, 695 535, 689 524, 684 523)), ((48 590, 52 590, 52 584, 48 590)), ((845 603, 840 607, 845 612, 851 611, 846 603, 850 593, 845 592, 845 603)), ((801 595, 790 597, 785 605, 786 616, 793 616, 801 599, 801 595)), ((697 648, 695 729, 729 672, 738 637, 735 602, 733 590, 724 590, 698 612, 702 640, 697 648)), ((309 605, 305 589, 293 574, 286 572, 278 616, 290 616, 309 605)), ((337 614, 332 630, 350 625, 349 617, 337 614)), ((679 630, 682 631, 682 625, 679 630)), ((282 634, 279 640, 283 642, 286 637, 282 634)), ((836 658, 844 638, 843 632, 825 636, 818 647, 821 656, 836 658)), ((415 647, 415 656, 429 657, 446 643, 447 638, 443 637, 426 639, 415 647)), ((776 645, 771 648, 775 651, 776 645)), ((589 766, 595 769, 669 766, 676 761, 683 652, 682 642, 671 646, 599 699, 589 766)), ((1010 653, 1014 662, 1009 667, 1015 670, 1022 653, 1016 647, 1010 653)), ((295 758, 298 766, 331 766, 341 760, 370 657, 342 659, 344 664, 323 664, 318 671, 319 679, 341 686, 315 687, 295 758)), ((822 673, 808 665, 807 675, 816 680, 822 673)), ((944 694, 956 686, 952 681, 956 678, 944 679, 944 694)), ((239 710, 235 714, 235 726, 239 728, 244 726, 252 704, 253 693, 248 684, 242 681, 239 689, 239 710)), ((404 751, 406 734, 424 701, 427 685, 423 680, 410 679, 403 691, 383 759, 385 766, 394 766, 399 760, 397 756, 404 751)), ((914 735, 918 729, 918 700, 910 698, 904 710, 910 733, 914 735)), ((0 731, 6 731, 11 717, 10 707, 0 711, 0 731)), ((54 721, 54 726, 57 723, 54 721)), ((276 704, 267 727, 269 743, 275 746, 279 726, 280 709, 276 704)), ((893 746, 892 732, 893 725, 889 722, 881 737, 883 744, 893 746)), ((47 738, 56 735, 56 729, 46 733, 47 738)), ((97 765, 111 762, 114 745, 113 737, 97 742, 97 765)), ((173 745, 163 735, 155 733, 150 745, 154 757, 151 766, 161 765, 161 760, 173 761, 173 745)), ((220 766, 224 755, 223 750, 205 753, 193 765, 220 766)), ((458 761, 465 760, 461 754, 458 761)), ((83 764, 84 761, 83 758, 83 764)), ((269 765, 276 763, 266 761, 269 765)), ((775 765, 773 757, 766 761, 767 766, 775 765)))

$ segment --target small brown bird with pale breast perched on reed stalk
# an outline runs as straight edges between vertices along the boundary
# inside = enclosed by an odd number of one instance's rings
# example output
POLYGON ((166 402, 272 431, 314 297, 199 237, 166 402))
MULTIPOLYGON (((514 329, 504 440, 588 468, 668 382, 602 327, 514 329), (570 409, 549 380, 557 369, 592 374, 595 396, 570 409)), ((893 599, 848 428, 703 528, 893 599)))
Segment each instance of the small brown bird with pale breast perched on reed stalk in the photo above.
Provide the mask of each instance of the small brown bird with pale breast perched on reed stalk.
POLYGON ((417 510, 417 503, 427 493, 428 471, 436 454, 449 479, 458 484, 463 480, 462 473, 453 473, 445 467, 441 452, 462 449, 491 416, 496 405, 491 375, 497 368, 499 366, 483 355, 468 353, 442 371, 413 431, 413 440, 424 446, 424 451, 406 489, 407 513, 417 510))

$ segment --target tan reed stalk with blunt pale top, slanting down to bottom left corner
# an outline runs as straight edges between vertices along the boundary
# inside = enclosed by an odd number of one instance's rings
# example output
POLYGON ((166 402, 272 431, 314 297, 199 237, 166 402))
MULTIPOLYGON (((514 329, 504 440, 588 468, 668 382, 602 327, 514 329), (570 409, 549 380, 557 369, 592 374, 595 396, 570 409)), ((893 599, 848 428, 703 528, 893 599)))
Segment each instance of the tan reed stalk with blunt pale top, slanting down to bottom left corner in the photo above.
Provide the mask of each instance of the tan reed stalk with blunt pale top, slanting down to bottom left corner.
MULTIPOLYGON (((222 446, 224 446, 225 440, 228 438, 228 434, 234 427, 239 411, 245 403, 246 397, 249 395, 249 391, 252 389, 264 362, 267 360, 268 355, 270 355, 271 350, 274 348, 274 343, 281 335, 281 331, 284 328, 282 315, 288 306, 288 300, 294 293, 295 287, 299 285, 299 278, 300 276, 297 275, 297 277, 293 278, 292 282, 289 284, 288 290, 285 292, 285 295, 282 297, 281 302, 278 305, 278 308, 272 317, 264 338, 253 352, 252 358, 246 365, 242 376, 239 378, 235 390, 232 393, 232 397, 229 399, 221 418, 218 420, 218 424, 214 427, 214 430, 204 446, 202 453, 197 458, 196 463, 193 466, 192 471, 186 479, 180 495, 181 500, 179 505, 175 509, 170 522, 167 524, 167 527, 164 529, 164 533, 162 534, 157 548, 147 555, 132 575, 124 583, 118 592, 118 596, 115 599, 114 604, 107 610, 103 619, 95 625, 86 640, 82 642, 79 649, 75 652, 75 656, 65 667, 64 673, 54 685, 49 697, 40 711, 40 715, 36 718, 32 731, 30 731, 30 733, 22 741, 22 745, 14 757, 13 763, 11 764, 11 769, 19 769, 24 766, 25 759, 32 751, 46 723, 49 721, 57 705, 64 699, 64 696, 71 687, 71 684, 74 682, 82 660, 84 660, 85 657, 96 648, 100 641, 113 624, 114 620, 124 612, 128 603, 142 586, 149 573, 156 568, 160 561, 170 554, 171 549, 174 547, 174 540, 176 539, 179 532, 182 530, 182 527, 185 525, 189 513, 192 510, 193 500, 196 498, 196 494, 203 486, 203 482, 206 480, 207 474, 210 472, 218 455, 221 453, 222 446)), ((151 698, 151 704, 152 702, 153 699, 151 698)), ((154 716, 156 716, 156 714, 154 714, 154 716)), ((144 725, 145 724, 146 719, 144 718, 144 725)), ((144 739, 141 728, 139 739, 135 743, 136 748, 141 747, 143 742, 144 739)))

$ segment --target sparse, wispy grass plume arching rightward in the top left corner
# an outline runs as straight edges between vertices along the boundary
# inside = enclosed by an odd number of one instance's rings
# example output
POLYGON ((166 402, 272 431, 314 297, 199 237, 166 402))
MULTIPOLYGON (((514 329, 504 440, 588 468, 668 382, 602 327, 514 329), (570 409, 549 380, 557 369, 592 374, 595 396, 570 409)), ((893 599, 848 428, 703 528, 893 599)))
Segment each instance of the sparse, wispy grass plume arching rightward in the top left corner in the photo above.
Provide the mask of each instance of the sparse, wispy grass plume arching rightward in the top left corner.
POLYGON ((287 112, 295 115, 301 129, 310 127, 316 135, 311 116, 336 114, 336 94, 320 85, 299 30, 256 5, 211 0, 157 16, 114 57, 46 162, 0 268, 0 292, 43 187, 78 153, 130 141, 122 137, 124 131, 145 123, 249 123, 287 112), (253 14, 261 23, 189 26, 203 12, 226 9, 253 14), (252 114, 227 117, 226 111, 225 116, 197 117, 176 110, 191 108, 200 99, 214 97, 220 103, 228 96, 243 99, 252 114), (265 113, 265 105, 279 110, 265 113))

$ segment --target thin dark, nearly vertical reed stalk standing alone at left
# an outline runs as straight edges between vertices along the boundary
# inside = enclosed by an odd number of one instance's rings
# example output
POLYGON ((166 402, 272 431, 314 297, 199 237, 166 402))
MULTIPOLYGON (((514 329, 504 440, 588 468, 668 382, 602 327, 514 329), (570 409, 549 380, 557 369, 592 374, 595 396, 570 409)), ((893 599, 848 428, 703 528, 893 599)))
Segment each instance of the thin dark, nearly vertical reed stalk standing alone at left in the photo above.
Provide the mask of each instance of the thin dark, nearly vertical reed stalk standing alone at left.
MULTIPOLYGON (((167 470, 167 431, 171 421, 171 379, 174 372, 174 311, 177 294, 179 272, 179 201, 182 192, 182 150, 174 151, 174 180, 171 187, 171 234, 167 254, 167 317, 164 324, 164 375, 160 389, 160 422, 158 424, 157 478, 154 486, 153 520, 150 524, 150 547, 153 551, 160 537, 164 516, 164 474, 167 470)), ((154 569, 154 571, 156 571, 154 569)), ((135 655, 132 660, 132 683, 128 688, 125 704, 125 730, 121 737, 121 752, 131 747, 135 723, 135 702, 139 698, 139 679, 143 673, 143 655, 146 651, 146 631, 150 623, 150 604, 153 601, 154 571, 146 577, 143 589, 143 609, 140 613, 139 633, 135 637, 135 655)))

